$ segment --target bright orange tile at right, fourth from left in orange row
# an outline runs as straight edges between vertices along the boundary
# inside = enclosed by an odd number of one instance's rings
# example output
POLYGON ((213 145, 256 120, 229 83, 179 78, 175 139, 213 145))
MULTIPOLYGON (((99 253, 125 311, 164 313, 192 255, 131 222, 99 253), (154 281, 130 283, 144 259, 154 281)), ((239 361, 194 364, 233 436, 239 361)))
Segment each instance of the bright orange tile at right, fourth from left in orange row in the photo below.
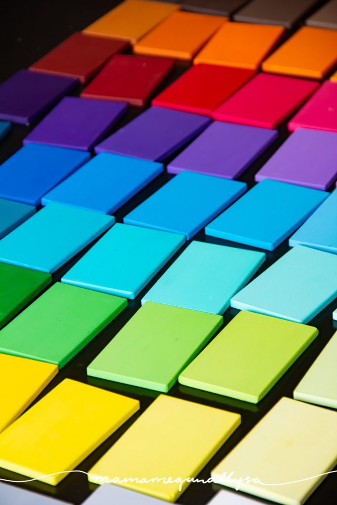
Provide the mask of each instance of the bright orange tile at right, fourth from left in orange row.
POLYGON ((322 79, 337 63, 337 30, 303 26, 262 64, 265 72, 322 79))

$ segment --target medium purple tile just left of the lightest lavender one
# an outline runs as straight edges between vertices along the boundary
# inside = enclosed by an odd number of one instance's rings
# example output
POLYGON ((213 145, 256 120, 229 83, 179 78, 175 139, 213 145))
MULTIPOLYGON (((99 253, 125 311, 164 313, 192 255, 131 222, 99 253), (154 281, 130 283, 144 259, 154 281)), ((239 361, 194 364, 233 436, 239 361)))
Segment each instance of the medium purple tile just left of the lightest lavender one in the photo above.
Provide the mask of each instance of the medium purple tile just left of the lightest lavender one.
POLYGON ((277 138, 276 130, 215 121, 168 166, 235 179, 277 138))

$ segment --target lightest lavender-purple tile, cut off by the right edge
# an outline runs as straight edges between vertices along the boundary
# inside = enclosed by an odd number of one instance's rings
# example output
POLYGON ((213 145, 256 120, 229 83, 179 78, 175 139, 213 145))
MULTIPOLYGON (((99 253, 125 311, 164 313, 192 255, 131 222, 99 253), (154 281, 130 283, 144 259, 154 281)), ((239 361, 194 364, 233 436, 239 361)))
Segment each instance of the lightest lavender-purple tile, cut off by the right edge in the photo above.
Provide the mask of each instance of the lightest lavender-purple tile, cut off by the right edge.
POLYGON ((337 133, 298 128, 256 174, 326 190, 337 179, 337 133))

